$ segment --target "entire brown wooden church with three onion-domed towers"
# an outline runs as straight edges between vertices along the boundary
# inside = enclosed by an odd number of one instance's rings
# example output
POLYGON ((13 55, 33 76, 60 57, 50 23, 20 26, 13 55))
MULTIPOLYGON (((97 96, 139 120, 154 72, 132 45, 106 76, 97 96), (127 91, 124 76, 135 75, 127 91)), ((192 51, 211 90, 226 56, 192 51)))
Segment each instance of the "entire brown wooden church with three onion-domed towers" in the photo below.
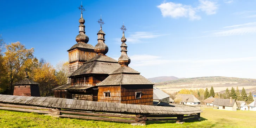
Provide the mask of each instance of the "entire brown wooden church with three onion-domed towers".
POLYGON ((79 19, 77 44, 69 50, 69 75, 65 85, 52 89, 54 97, 70 98, 98 102, 153 105, 153 85, 151 81, 130 68, 127 56, 127 45, 123 25, 121 30, 121 56, 117 60, 108 57, 108 46, 105 44, 105 33, 102 31, 103 20, 100 19, 98 43, 88 44, 85 34, 83 6, 79 19))

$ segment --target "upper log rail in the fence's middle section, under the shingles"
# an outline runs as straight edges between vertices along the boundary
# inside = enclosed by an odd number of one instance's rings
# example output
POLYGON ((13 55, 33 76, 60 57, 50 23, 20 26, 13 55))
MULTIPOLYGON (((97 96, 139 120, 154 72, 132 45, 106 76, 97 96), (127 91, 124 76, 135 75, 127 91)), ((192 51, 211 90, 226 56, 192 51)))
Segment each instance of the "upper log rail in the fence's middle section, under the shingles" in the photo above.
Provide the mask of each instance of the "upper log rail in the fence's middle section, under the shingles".
POLYGON ((79 112, 79 111, 64 111, 61 110, 61 113, 66 114, 78 114, 78 115, 88 115, 88 116, 108 116, 108 117, 120 117, 120 118, 130 118, 135 119, 135 116, 129 116, 129 115, 119 115, 119 114, 101 114, 101 113, 87 113, 87 112, 79 112))

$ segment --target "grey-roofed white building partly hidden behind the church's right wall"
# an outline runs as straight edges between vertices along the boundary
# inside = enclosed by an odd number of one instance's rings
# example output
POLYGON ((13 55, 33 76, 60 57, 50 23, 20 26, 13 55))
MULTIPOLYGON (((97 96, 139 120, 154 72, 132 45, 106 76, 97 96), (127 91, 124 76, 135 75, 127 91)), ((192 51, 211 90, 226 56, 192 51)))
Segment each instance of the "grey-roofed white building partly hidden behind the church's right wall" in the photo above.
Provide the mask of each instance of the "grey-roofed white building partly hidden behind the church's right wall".
POLYGON ((173 102, 172 98, 168 94, 156 87, 153 88, 153 101, 165 103, 173 102))

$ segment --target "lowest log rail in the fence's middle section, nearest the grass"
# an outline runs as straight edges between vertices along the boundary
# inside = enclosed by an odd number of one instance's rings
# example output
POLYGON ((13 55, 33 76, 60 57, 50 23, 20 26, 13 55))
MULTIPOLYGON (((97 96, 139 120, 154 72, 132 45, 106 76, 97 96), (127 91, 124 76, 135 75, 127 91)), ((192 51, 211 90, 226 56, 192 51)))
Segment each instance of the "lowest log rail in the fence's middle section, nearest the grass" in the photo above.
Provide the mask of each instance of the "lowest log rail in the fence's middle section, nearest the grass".
POLYGON ((88 120, 102 120, 102 121, 114 121, 114 122, 125 122, 125 123, 143 123, 146 121, 137 122, 135 120, 126 120, 126 119, 116 119, 116 118, 106 118, 106 117, 94 117, 94 116, 79 116, 79 115, 66 115, 62 114, 60 117, 68 117, 68 118, 78 118, 78 119, 88 119, 88 120))

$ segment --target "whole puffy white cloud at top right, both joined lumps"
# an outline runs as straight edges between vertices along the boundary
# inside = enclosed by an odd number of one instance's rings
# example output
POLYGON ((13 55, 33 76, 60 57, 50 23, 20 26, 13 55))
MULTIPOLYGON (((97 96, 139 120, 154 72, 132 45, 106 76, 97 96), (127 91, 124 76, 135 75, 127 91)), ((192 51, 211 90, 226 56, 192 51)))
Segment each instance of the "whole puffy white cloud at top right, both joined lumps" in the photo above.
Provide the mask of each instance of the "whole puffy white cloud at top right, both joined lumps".
POLYGON ((197 7, 183 5, 174 2, 164 2, 157 6, 163 17, 180 18, 186 17, 190 20, 200 20, 201 17, 196 13, 199 11, 205 12, 207 15, 215 14, 218 9, 217 3, 210 0, 199 0, 197 7))

